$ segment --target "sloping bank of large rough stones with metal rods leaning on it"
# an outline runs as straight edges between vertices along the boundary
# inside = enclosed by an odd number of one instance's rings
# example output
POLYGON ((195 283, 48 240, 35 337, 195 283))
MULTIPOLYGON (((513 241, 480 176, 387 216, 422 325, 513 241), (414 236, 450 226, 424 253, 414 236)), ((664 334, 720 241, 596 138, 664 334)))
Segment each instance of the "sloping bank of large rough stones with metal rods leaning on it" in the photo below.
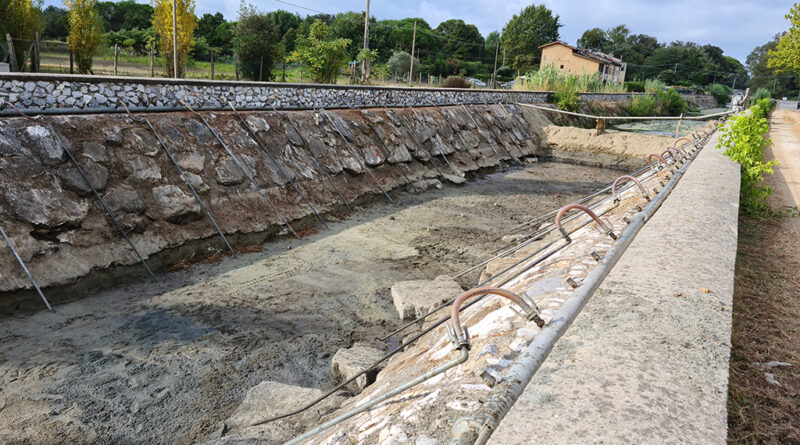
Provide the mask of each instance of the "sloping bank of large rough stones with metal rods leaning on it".
MULTIPOLYGON (((512 118, 496 105, 468 108, 469 114, 463 107, 420 108, 416 112, 424 126, 407 109, 329 111, 330 119, 313 111, 287 112, 299 132, 287 113, 241 114, 324 215, 344 206, 326 173, 352 203, 385 199, 369 173, 387 191, 406 187, 413 192, 440 180, 463 182, 465 171, 498 165, 512 155, 536 153, 539 141, 517 107, 505 106, 512 118)), ((322 230, 309 206, 233 113, 202 114, 296 231, 322 230)), ((197 116, 141 116, 152 122, 234 246, 258 244, 285 232, 279 215, 197 116)), ((112 266, 130 266, 130 273, 144 275, 59 138, 151 267, 168 266, 201 252, 225 252, 211 221, 146 123, 124 114, 54 116, 47 121, 0 119, 0 226, 41 286, 98 276, 94 272, 112 266)), ((115 278, 109 277, 119 277, 119 273, 102 274, 112 283, 115 278)), ((30 286, 11 251, 0 242, 0 292, 30 286)))

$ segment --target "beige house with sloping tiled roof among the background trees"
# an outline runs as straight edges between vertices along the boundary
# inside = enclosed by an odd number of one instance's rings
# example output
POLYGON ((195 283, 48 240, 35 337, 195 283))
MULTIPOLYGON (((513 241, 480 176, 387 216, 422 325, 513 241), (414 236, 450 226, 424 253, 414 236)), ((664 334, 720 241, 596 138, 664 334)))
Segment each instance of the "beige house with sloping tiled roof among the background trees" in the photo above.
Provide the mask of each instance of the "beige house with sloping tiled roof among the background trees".
POLYGON ((588 49, 576 48, 564 42, 551 42, 539 47, 541 66, 555 65, 559 70, 581 75, 597 73, 606 82, 625 82, 627 63, 614 56, 588 49))

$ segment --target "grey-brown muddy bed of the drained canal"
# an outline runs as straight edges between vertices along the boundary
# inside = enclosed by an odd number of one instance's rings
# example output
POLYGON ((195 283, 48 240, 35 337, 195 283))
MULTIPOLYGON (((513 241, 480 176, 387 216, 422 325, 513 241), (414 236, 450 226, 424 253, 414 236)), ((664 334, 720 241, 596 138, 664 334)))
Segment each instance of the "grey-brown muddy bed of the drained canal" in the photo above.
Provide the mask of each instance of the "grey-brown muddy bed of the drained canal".
POLYGON ((337 349, 379 345, 399 325, 392 284, 479 263, 504 230, 619 174, 531 164, 400 193, 303 240, 165 274, 159 285, 6 315, 0 442, 198 442, 261 381, 328 389, 337 349))

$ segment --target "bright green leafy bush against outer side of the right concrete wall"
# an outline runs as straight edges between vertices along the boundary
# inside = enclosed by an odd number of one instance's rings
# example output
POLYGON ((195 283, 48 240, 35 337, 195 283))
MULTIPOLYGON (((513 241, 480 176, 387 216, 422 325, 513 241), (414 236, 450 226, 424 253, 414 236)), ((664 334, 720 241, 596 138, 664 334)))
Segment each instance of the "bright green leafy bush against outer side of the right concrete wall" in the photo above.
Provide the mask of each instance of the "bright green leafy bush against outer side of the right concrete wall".
POLYGON ((724 148, 725 156, 741 165, 739 205, 748 216, 763 217, 769 214, 767 198, 772 194, 772 188, 764 184, 764 175, 772 174, 773 167, 778 165, 775 160, 764 161, 764 149, 772 145, 772 141, 766 137, 769 109, 769 101, 762 101, 750 108, 750 114, 734 116, 720 129, 717 148, 724 148))

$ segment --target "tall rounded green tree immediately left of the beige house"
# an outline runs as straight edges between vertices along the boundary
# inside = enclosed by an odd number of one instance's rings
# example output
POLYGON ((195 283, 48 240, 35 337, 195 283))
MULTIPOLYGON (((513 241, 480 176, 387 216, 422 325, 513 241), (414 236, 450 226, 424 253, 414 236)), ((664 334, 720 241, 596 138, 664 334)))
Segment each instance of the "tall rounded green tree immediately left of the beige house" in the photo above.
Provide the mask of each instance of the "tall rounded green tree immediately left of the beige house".
POLYGON ((506 65, 525 71, 539 64, 541 45, 558 40, 559 16, 544 5, 530 5, 514 15, 503 28, 501 44, 507 51, 506 65))

